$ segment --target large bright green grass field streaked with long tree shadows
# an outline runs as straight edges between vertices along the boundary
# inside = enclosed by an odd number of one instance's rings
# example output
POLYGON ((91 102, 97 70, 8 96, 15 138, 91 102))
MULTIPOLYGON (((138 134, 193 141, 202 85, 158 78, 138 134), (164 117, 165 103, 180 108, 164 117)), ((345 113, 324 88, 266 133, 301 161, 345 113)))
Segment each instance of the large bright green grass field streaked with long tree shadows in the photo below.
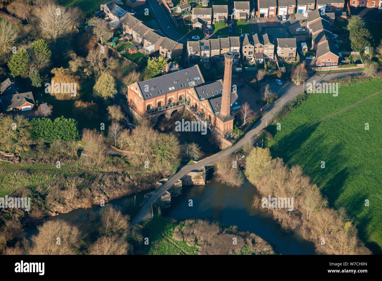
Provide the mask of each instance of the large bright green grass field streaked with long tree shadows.
POLYGON ((338 96, 314 94, 268 130, 273 156, 298 164, 329 205, 344 207, 359 236, 382 247, 382 80, 343 86, 338 96), (369 130, 365 130, 369 123, 369 130), (325 161, 322 169, 321 161, 325 161), (369 207, 365 206, 369 200, 369 207))

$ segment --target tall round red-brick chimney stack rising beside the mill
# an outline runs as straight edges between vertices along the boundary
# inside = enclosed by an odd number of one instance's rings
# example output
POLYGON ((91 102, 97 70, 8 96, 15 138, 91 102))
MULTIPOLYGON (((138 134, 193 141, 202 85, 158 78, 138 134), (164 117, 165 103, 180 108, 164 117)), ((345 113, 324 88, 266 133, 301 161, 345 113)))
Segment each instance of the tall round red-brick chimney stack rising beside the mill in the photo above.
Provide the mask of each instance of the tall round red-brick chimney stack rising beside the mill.
POLYGON ((224 80, 223 80, 223 94, 222 94, 222 107, 220 114, 222 117, 229 116, 231 113, 231 82, 232 82, 232 63, 234 55, 231 52, 224 54, 224 80))

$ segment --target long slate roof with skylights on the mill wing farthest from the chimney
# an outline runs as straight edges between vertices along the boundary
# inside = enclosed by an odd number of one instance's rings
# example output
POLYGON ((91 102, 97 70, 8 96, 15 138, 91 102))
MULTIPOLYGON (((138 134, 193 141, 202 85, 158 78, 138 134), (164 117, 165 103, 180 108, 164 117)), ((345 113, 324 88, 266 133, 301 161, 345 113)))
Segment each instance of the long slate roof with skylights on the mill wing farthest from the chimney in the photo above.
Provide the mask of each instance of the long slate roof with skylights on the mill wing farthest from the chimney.
POLYGON ((204 78, 197 65, 150 80, 138 82, 139 89, 145 100, 200 84, 204 84, 204 78), (174 87, 174 89, 172 89, 172 87, 174 87), (145 92, 145 89, 148 89, 148 91, 145 92))

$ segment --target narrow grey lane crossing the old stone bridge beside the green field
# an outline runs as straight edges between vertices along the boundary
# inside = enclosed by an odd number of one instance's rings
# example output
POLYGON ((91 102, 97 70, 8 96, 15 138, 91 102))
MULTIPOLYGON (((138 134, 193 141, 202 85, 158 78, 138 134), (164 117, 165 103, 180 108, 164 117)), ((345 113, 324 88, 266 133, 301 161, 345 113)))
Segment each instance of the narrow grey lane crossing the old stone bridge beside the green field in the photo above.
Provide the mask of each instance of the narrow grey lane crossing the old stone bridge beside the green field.
MULTIPOLYGON (((329 73, 320 73, 316 75, 311 75, 308 81, 306 83, 313 83, 315 80, 316 83, 322 82, 322 81, 328 81, 332 78, 339 78, 343 77, 346 75, 359 75, 361 74, 362 71, 344 71, 344 72, 329 72, 329 73)), ((306 84, 305 83, 305 84, 306 84)), ((271 114, 272 118, 275 116, 275 114, 278 112, 278 110, 281 109, 282 104, 285 105, 291 100, 293 100, 299 93, 303 91, 303 85, 301 86, 296 86, 292 82, 286 83, 280 93, 282 95, 273 103, 271 104, 267 112, 271 114)), ((333 98, 341 98, 340 97, 341 93, 338 93, 338 97, 333 97, 333 98)), ((147 198, 146 201, 143 202, 142 208, 139 211, 139 213, 136 215, 136 217, 133 219, 133 222, 131 223, 131 227, 134 227, 137 223, 140 221, 146 221, 147 219, 151 218, 151 205, 154 203, 155 200, 157 200, 160 196, 162 196, 166 190, 170 187, 172 187, 175 182, 177 182, 181 177, 186 175, 188 172, 191 172, 193 170, 199 170, 202 169, 202 167, 207 166, 220 158, 227 156, 231 153, 234 153, 241 149, 251 138, 259 133, 260 130, 265 128, 265 120, 264 117, 262 117, 260 120, 258 120, 255 124, 254 127, 249 130, 246 135, 244 135, 235 145, 230 146, 229 148, 226 148, 200 162, 197 164, 193 165, 185 165, 181 167, 176 174, 174 174, 172 177, 170 177, 165 184, 163 184, 160 188, 155 190, 155 192, 150 195, 149 198, 147 198)))

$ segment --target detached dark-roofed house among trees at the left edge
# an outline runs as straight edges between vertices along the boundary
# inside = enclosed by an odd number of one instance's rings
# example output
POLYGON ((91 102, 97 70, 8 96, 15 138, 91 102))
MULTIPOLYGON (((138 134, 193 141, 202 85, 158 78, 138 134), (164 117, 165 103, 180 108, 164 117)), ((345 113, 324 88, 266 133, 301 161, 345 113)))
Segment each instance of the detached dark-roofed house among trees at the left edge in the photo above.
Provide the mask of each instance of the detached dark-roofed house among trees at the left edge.
POLYGON ((36 103, 32 92, 24 92, 9 78, 0 84, 0 111, 31 110, 36 103))

